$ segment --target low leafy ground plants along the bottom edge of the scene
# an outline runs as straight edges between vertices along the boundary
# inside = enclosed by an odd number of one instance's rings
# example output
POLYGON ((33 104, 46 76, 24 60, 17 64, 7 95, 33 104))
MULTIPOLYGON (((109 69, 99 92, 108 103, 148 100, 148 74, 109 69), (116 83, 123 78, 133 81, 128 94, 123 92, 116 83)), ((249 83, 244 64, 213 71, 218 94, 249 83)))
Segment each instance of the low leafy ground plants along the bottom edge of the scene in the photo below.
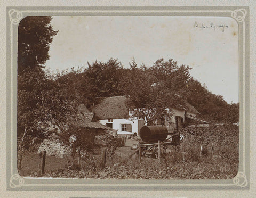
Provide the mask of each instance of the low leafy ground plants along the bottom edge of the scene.
POLYGON ((157 160, 143 158, 139 165, 137 159, 131 159, 120 166, 100 168, 90 162, 84 163, 82 167, 69 165, 58 171, 47 172, 46 176, 100 179, 230 179, 237 174, 236 166, 220 159, 179 163, 172 163, 172 159, 169 159, 158 164, 157 160))

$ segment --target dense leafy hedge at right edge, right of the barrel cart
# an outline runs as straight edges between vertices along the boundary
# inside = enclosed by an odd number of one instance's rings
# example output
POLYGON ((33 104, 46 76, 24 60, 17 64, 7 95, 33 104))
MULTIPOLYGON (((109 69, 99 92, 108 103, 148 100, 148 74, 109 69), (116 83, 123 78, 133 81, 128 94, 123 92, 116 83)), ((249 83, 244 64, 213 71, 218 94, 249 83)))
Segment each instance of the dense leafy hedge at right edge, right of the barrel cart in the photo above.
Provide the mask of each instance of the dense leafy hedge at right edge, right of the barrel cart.
POLYGON ((183 128, 180 133, 185 136, 183 145, 190 158, 198 155, 196 147, 199 145, 203 146, 202 155, 209 156, 213 144, 213 155, 238 161, 239 127, 236 125, 190 126, 183 128))

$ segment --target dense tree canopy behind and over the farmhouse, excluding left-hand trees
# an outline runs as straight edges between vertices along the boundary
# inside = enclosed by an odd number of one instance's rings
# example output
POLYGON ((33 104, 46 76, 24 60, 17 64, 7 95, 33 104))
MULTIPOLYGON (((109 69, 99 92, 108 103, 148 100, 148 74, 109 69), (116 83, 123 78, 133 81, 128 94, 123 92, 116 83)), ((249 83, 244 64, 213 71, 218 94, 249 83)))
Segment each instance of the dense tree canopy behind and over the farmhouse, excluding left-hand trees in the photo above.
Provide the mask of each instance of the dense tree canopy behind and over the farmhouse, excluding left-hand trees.
POLYGON ((206 121, 239 120, 239 108, 238 111, 231 108, 239 104, 227 104, 222 96, 212 94, 198 80, 190 78, 189 70, 172 59, 159 59, 151 67, 143 64, 138 67, 133 59, 129 68, 123 68, 117 59, 110 59, 106 63, 88 63, 84 71, 57 75, 56 82, 72 96, 68 100, 83 101, 89 108, 101 97, 126 95, 132 116, 145 118, 149 124, 155 119, 170 117, 172 112, 168 109, 179 107, 185 99, 206 121))

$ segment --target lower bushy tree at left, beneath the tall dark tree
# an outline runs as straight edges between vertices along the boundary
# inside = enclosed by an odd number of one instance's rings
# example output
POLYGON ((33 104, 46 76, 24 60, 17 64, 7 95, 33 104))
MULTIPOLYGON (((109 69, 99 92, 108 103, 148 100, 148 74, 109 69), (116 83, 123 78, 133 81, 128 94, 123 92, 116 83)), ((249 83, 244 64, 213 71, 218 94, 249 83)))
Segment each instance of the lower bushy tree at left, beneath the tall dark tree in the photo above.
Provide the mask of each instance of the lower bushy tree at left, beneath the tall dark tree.
MULTIPOLYGON (((63 85, 43 76, 43 71, 28 71, 18 76, 18 135, 43 137, 38 123, 54 121, 60 129, 76 119, 78 104, 67 100, 70 92, 63 85)), ((28 147, 28 145, 23 145, 28 147)))

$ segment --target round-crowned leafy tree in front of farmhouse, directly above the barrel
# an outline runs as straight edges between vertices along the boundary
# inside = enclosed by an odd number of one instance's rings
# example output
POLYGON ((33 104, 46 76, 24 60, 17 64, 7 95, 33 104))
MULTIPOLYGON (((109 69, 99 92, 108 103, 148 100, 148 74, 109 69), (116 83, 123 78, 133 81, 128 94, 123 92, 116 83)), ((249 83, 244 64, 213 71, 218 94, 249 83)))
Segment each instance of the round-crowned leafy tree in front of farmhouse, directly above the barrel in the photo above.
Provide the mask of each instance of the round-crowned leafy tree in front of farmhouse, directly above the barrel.
POLYGON ((183 103, 186 92, 180 89, 187 89, 188 70, 172 60, 160 59, 151 68, 142 65, 126 71, 121 87, 129 98, 127 106, 132 117, 144 118, 148 125, 156 119, 170 118, 173 114, 170 109, 183 103))

